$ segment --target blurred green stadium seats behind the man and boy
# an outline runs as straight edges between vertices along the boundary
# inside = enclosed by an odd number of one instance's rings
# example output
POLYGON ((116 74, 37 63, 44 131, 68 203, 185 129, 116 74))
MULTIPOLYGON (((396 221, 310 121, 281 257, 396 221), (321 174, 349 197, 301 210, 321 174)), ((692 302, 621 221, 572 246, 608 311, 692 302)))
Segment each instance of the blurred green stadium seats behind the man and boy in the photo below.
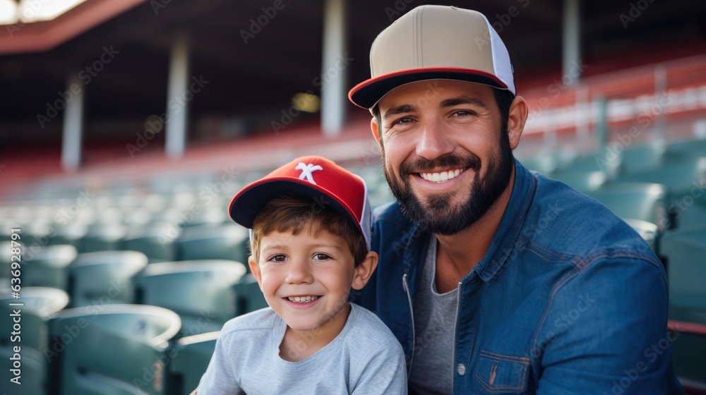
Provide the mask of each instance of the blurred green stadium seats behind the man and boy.
MULTIPOLYGON (((698 334, 706 328, 706 193, 699 189, 706 186, 706 143, 521 162, 603 202, 661 257, 669 277, 670 325, 680 334, 674 340, 678 375, 693 388, 706 388, 706 332, 698 334)), ((392 199, 379 164, 350 169, 366 180, 373 207, 392 199)), ((85 186, 52 185, 0 204, 0 277, 10 273, 9 229, 20 228, 23 300, 32 293, 47 295, 36 298, 37 313, 23 310, 23 334, 38 337, 36 348, 27 346, 34 351, 23 354, 28 356, 23 375, 36 392, 23 387, 22 393, 188 394, 208 363, 220 325, 265 305, 239 263, 247 259, 247 232, 226 212, 232 195, 262 175, 243 174, 225 184, 213 176, 193 183, 89 188, 85 202, 80 200, 85 186), (116 317, 127 324, 117 324, 116 317), (179 324, 164 317, 176 317, 179 324), (86 335, 74 336, 75 327, 86 335), (65 345, 59 362, 46 363, 52 339, 64 338, 74 339, 75 348, 65 345), (184 363, 190 358, 205 362, 184 363)), ((10 280, 0 281, 4 288, 10 280)), ((7 306, 9 291, 3 298, 7 306)), ((3 328, 12 326, 8 317, 3 312, 3 328)), ((11 353, 7 340, 0 341, 4 354, 11 353)))

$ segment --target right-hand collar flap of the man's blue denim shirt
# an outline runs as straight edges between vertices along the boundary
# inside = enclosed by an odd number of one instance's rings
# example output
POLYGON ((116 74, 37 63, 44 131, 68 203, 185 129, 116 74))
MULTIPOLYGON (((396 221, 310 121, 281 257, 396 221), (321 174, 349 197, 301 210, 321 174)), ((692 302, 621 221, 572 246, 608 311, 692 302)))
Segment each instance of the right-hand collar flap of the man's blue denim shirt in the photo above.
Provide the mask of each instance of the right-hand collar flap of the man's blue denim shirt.
POLYGON ((462 281, 469 280, 476 272, 478 277, 487 282, 503 267, 505 261, 508 260, 508 256, 510 256, 510 252, 513 250, 517 237, 520 236, 520 231, 522 231, 522 226, 525 224, 527 212, 530 209, 530 205, 532 205, 532 198, 536 189, 537 180, 534 179, 529 170, 525 169, 525 166, 522 166, 515 159, 513 192, 510 194, 508 206, 505 207, 500 226, 498 226, 486 255, 462 281))

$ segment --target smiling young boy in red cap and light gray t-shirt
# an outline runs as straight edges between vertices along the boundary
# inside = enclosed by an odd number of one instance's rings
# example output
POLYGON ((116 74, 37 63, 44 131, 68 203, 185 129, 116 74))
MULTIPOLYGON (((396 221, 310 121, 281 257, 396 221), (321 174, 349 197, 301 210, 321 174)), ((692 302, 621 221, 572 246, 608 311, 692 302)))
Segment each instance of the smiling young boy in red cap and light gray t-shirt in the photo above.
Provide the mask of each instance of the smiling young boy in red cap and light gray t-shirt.
POLYGON ((301 157, 243 188, 230 216, 251 229, 248 263, 270 308, 225 324, 198 395, 407 394, 399 341, 348 303, 378 262, 364 181, 301 157))

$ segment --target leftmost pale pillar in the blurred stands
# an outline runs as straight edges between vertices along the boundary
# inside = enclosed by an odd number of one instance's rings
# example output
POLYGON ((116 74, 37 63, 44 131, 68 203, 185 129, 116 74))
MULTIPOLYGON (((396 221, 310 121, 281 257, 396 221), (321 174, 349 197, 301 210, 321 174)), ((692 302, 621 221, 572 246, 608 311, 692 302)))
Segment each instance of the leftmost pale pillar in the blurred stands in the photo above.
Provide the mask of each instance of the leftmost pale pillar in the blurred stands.
POLYGON ((83 94, 85 86, 78 73, 71 75, 66 82, 66 91, 73 95, 66 100, 64 111, 64 136, 61 141, 61 166, 66 171, 75 171, 81 164, 83 140, 83 94))

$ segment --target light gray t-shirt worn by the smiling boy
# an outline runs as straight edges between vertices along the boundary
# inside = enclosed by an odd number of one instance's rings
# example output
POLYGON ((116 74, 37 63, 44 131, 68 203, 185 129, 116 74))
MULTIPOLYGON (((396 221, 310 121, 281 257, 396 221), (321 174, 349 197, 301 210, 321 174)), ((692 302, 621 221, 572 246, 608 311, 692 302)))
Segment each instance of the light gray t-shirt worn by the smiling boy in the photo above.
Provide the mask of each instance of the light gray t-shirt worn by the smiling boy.
POLYGON ((372 312, 351 305, 342 331, 309 358, 280 358, 287 324, 271 308, 226 322, 198 395, 407 394, 400 342, 372 312))

